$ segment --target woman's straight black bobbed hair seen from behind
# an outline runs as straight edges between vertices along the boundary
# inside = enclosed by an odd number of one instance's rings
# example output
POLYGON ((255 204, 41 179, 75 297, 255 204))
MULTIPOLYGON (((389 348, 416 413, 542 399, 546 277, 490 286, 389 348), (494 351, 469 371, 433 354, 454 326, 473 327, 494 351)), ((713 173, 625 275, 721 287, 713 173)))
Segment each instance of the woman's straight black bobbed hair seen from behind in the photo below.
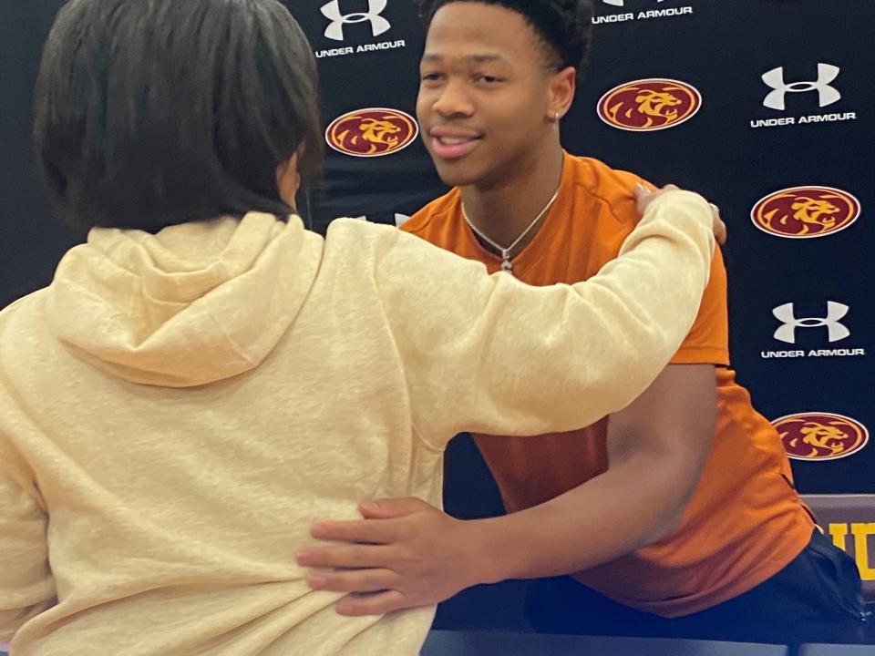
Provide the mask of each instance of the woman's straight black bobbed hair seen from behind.
POLYGON ((276 0, 70 0, 36 84, 36 157, 78 227, 285 216, 322 162, 313 50, 276 0))

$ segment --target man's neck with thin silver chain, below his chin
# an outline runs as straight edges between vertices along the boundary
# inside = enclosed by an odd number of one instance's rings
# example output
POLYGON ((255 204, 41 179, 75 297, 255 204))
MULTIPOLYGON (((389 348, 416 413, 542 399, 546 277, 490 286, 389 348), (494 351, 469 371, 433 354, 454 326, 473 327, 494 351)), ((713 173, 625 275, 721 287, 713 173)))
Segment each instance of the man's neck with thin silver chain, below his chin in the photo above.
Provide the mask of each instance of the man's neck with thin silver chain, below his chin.
MULTIPOLYGON (((537 157, 520 162, 515 174, 499 184, 463 187, 465 212, 479 231, 508 248, 550 202, 559 188, 561 176, 562 150, 558 143, 551 144, 551 148, 543 149, 537 157)), ((511 255, 525 248, 539 228, 535 226, 511 255)))

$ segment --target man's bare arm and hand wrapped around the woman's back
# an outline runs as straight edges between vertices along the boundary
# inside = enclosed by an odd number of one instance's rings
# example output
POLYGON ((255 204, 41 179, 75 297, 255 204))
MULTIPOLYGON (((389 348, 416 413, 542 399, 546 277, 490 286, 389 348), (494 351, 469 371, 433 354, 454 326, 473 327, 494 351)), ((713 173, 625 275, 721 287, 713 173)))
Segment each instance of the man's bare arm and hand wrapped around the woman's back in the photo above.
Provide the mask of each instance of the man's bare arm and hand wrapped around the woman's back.
POLYGON ((386 590, 345 599, 338 612, 378 614, 437 603, 503 579, 568 574, 617 559, 677 528, 715 433, 711 364, 672 364, 611 415, 608 470, 547 503, 501 518, 460 521, 415 499, 363 507, 359 522, 328 522, 314 537, 367 542, 313 549, 299 562, 317 589, 386 590))

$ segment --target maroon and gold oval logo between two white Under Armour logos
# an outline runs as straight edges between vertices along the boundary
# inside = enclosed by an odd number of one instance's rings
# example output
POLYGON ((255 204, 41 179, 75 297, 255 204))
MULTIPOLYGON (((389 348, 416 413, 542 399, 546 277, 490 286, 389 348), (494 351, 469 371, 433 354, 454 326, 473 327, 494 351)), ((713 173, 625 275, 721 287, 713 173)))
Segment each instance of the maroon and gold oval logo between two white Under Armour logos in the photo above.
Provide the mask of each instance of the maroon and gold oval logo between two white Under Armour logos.
POLYGON ((824 237, 860 217, 860 200, 831 187, 791 187, 757 202, 750 216, 757 228, 778 237, 824 237))

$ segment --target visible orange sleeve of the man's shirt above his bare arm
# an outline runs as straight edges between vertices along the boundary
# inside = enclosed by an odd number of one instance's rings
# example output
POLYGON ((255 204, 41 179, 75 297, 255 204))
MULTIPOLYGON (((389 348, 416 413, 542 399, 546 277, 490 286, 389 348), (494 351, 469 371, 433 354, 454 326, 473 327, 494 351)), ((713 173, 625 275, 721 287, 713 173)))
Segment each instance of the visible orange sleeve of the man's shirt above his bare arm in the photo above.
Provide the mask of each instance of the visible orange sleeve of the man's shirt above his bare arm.
POLYGON ((729 365, 729 316, 726 310, 726 266, 716 249, 711 278, 695 323, 671 364, 729 365))

